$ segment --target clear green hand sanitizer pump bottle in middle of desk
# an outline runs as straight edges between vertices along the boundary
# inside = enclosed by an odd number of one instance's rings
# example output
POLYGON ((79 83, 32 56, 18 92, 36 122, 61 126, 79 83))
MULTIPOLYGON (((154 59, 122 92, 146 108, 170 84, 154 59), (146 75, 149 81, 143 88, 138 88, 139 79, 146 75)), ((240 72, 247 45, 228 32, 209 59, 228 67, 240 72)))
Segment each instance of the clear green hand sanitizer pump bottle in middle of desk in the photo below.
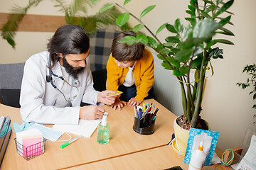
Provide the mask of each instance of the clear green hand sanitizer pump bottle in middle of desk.
POLYGON ((97 142, 107 144, 110 141, 110 124, 107 123, 107 115, 102 116, 102 122, 97 127, 97 142))

